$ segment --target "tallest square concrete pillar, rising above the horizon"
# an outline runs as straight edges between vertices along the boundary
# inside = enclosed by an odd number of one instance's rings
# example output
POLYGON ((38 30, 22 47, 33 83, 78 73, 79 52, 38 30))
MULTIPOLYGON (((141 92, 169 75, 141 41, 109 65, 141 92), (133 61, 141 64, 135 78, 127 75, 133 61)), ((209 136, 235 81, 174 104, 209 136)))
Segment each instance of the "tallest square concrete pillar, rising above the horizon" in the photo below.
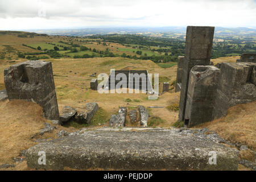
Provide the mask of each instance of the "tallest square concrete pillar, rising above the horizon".
POLYGON ((195 65, 209 65, 214 27, 187 27, 185 57, 182 72, 179 121, 184 121, 188 92, 189 72, 195 65))

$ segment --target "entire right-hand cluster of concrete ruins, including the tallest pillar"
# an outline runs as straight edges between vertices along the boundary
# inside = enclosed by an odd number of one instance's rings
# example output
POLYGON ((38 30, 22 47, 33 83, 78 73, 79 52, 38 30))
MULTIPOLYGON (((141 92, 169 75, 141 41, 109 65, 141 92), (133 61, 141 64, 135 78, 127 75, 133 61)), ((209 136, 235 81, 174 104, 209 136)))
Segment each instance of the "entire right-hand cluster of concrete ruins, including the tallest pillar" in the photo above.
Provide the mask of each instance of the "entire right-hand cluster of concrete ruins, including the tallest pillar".
POLYGON ((256 100, 256 54, 243 53, 237 63, 208 66, 213 32, 214 27, 187 27, 185 57, 179 57, 175 91, 181 79, 179 121, 188 127, 224 117, 229 107, 256 100))

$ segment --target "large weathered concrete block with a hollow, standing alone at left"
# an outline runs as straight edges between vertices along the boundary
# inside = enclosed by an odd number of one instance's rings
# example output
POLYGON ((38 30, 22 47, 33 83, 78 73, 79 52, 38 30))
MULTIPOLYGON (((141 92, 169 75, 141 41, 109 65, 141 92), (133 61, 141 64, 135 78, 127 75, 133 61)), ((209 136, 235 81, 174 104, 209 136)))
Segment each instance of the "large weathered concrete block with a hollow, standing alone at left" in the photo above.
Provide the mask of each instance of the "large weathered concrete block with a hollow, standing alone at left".
POLYGON ((5 69, 4 75, 9 100, 36 102, 43 107, 44 117, 59 120, 51 62, 26 61, 14 64, 5 69))

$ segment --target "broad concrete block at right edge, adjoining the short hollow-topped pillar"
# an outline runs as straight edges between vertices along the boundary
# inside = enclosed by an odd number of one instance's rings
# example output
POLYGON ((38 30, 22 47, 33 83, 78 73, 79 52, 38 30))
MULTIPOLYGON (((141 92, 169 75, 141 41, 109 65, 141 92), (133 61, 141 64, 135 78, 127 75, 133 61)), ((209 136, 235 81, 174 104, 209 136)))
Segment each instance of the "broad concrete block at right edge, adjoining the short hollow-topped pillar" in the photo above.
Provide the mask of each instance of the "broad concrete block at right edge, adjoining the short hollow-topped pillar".
POLYGON ((213 117, 227 114, 229 107, 256 100, 255 85, 250 82, 255 63, 222 63, 213 117))

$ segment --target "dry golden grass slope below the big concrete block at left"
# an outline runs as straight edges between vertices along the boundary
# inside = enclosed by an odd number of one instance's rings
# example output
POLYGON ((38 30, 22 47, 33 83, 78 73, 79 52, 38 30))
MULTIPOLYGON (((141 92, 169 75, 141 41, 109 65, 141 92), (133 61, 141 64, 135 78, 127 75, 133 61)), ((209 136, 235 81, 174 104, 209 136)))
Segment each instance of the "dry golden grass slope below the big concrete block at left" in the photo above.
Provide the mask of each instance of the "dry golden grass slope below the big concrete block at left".
POLYGON ((44 127, 42 107, 26 101, 0 102, 0 163, 11 159, 21 150, 34 146, 31 136, 44 127))

